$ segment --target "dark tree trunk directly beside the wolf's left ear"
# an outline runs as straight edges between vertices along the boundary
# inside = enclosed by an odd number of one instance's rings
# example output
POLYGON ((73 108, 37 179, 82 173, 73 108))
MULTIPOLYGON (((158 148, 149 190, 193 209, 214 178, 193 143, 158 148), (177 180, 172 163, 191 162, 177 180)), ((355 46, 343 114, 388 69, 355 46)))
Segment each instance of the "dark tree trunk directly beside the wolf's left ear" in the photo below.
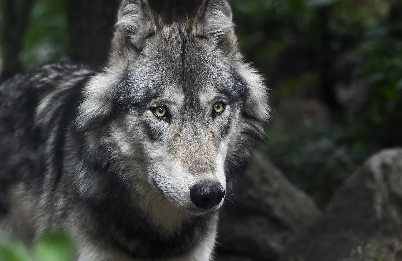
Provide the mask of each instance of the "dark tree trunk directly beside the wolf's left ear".
POLYGON ((120 0, 68 0, 68 54, 98 67, 107 60, 120 0))

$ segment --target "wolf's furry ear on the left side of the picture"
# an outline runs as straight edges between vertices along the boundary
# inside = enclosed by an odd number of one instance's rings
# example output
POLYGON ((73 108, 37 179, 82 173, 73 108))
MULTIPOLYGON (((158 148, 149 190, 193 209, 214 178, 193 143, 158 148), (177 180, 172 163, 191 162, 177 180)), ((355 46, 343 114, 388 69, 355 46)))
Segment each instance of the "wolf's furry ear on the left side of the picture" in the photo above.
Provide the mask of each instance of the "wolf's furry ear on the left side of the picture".
POLYGON ((157 21, 146 0, 122 0, 111 43, 109 64, 135 59, 147 36, 155 32, 157 21))

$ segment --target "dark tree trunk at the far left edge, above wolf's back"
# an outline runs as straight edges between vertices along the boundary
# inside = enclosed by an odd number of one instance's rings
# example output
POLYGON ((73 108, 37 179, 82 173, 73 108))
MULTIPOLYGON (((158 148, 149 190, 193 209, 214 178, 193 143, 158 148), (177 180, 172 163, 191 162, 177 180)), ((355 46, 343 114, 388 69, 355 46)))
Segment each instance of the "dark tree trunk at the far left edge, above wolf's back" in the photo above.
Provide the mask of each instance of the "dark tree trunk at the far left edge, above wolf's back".
POLYGON ((2 0, 4 65, 0 82, 22 71, 19 53, 23 45, 33 0, 2 0))

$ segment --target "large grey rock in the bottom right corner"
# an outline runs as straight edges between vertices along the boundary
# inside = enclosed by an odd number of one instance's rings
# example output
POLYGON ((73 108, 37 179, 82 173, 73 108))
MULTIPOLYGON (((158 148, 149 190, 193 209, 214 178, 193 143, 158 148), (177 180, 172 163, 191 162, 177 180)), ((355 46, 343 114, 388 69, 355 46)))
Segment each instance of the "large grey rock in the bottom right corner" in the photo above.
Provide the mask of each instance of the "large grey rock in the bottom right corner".
POLYGON ((323 218, 289 244, 282 260, 402 260, 402 149, 368 159, 336 191, 323 218))

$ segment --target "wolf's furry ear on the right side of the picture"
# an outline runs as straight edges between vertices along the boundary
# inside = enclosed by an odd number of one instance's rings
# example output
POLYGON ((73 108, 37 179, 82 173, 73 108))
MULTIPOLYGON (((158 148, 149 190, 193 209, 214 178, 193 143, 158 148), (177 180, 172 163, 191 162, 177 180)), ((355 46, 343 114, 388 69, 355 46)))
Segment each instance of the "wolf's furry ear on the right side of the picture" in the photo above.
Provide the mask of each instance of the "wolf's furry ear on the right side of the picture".
POLYGON ((196 35, 215 41, 225 53, 238 53, 229 0, 204 0, 195 17, 193 30, 196 35))

